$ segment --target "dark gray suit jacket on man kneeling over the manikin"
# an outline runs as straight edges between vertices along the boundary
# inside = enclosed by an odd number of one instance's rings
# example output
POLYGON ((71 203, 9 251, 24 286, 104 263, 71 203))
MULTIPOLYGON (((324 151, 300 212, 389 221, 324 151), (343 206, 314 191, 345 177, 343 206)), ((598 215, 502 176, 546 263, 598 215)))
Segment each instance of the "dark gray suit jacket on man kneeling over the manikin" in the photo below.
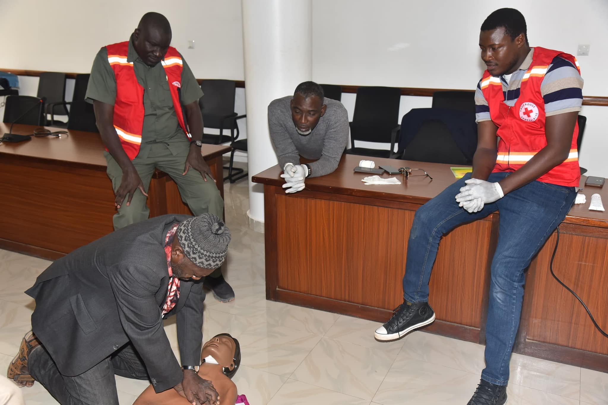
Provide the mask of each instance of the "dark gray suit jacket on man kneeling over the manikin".
MULTIPOLYGON (((169 280, 165 236, 188 218, 165 215, 112 232, 56 260, 26 291, 36 300, 33 332, 63 375, 83 373, 131 342, 156 392, 181 383, 161 310, 169 280)), ((167 314, 177 314, 184 365, 201 361, 204 299, 202 280, 181 281, 178 304, 167 314)))

